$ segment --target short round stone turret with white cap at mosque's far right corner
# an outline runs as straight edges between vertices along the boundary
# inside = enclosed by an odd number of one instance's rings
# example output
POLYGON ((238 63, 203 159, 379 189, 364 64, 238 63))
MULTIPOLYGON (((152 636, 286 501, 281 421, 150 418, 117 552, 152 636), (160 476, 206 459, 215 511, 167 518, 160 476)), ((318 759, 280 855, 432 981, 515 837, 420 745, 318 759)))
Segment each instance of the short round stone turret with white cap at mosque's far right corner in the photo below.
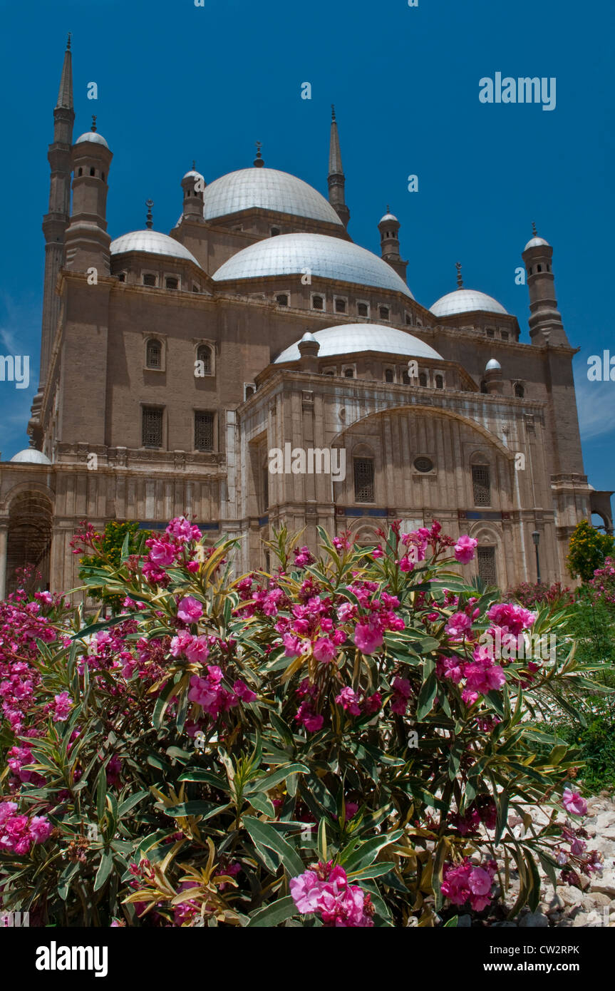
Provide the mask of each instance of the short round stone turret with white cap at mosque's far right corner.
POLYGON ((568 339, 556 299, 553 248, 538 236, 536 224, 532 224, 532 234, 523 252, 530 290, 530 337, 533 344, 567 346, 568 339))

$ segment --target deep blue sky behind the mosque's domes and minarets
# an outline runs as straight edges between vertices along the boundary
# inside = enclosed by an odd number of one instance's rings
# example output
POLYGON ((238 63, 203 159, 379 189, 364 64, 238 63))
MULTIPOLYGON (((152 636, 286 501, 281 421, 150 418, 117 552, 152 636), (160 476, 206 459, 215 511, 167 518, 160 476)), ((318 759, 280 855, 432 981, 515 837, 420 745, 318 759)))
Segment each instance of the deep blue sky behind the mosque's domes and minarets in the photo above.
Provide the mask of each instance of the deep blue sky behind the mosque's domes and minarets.
POLYGON ((612 326, 615 5, 608 0, 54 0, 0 2, 3 226, 0 353, 30 354, 29 389, 0 383, 2 459, 27 445, 36 391, 52 138, 65 36, 72 32, 75 137, 91 114, 115 159, 112 237, 168 231, 180 179, 196 159, 208 181, 266 165, 326 193, 330 104, 347 174, 350 232, 378 252, 387 203, 399 217, 408 281, 430 306, 465 285, 499 299, 528 341, 528 296, 515 284, 535 220, 553 244, 574 359, 585 470, 615 489, 615 383, 589 383, 589 355, 612 326), (495 72, 557 78, 557 107, 484 105, 495 72), (87 99, 87 83, 98 100, 87 99), (312 99, 300 98, 301 83, 312 99), (407 177, 419 176, 419 192, 407 177))

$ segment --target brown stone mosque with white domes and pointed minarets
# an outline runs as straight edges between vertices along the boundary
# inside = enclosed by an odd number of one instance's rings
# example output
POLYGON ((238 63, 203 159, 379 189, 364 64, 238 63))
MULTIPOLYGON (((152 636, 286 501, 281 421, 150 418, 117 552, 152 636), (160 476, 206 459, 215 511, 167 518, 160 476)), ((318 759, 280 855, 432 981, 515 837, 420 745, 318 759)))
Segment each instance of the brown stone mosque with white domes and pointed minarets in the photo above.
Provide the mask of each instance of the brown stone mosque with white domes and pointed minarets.
POLYGON ((41 376, 31 447, 0 463, 0 596, 26 564, 78 586, 82 519, 182 513, 211 542, 239 538, 241 571, 269 565, 284 524, 315 549, 319 525, 369 545, 393 519, 439 519, 479 541, 468 579, 536 581, 538 533, 543 581, 569 582, 570 533, 591 512, 611 529, 611 494, 583 473, 544 238, 523 252, 526 344, 461 275, 419 303, 388 209, 379 258, 352 241, 335 113, 328 198, 258 150, 210 182, 187 171, 170 234, 150 213, 114 240, 113 155, 95 124, 73 140, 69 44, 53 118, 41 376))

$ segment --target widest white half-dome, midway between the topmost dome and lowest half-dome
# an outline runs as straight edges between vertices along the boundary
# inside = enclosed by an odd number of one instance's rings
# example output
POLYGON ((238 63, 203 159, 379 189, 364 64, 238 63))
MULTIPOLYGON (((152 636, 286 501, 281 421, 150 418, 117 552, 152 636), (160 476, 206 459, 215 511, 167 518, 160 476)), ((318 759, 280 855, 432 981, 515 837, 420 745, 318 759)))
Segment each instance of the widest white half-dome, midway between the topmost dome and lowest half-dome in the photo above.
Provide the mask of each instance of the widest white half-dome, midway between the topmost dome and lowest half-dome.
POLYGON ((217 282, 266 275, 301 275, 310 269, 318 278, 335 278, 358 285, 373 285, 390 292, 414 296, 390 265, 352 241, 326 234, 281 234, 258 241, 233 255, 213 275, 217 282))

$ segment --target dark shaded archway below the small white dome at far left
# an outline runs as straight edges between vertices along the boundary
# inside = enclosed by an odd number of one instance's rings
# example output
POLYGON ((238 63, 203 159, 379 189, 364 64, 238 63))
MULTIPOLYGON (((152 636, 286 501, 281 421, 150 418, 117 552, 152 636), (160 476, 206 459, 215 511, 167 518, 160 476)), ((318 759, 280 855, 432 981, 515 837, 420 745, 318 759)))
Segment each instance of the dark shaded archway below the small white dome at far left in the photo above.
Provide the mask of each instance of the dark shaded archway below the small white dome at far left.
POLYGON ((32 584, 47 589, 50 584, 51 501, 38 492, 24 492, 11 500, 6 553, 6 593, 18 586, 18 571, 23 568, 40 573, 32 584))

